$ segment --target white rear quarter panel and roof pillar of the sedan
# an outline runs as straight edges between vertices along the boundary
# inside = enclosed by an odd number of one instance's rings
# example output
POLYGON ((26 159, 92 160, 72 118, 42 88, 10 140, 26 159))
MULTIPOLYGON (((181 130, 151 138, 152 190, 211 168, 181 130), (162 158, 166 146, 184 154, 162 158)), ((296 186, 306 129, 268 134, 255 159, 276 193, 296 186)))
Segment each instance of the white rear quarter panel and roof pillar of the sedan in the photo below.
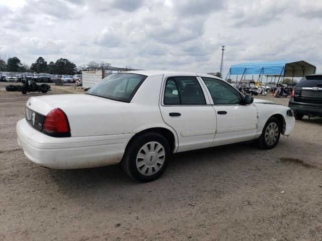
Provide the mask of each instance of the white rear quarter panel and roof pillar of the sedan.
POLYGON ((167 128, 158 106, 163 75, 148 77, 130 103, 66 106, 71 136, 138 133, 149 128, 167 128))

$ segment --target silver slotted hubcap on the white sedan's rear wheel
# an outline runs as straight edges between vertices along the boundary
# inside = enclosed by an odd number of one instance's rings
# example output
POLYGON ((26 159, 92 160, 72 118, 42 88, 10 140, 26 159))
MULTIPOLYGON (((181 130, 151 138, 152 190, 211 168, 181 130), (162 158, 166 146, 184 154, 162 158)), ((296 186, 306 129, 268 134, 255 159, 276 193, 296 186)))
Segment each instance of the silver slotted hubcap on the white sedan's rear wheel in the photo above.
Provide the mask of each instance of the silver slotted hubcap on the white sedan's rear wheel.
POLYGON ((164 147, 158 142, 144 144, 136 155, 136 168, 144 176, 157 173, 166 158, 164 147))

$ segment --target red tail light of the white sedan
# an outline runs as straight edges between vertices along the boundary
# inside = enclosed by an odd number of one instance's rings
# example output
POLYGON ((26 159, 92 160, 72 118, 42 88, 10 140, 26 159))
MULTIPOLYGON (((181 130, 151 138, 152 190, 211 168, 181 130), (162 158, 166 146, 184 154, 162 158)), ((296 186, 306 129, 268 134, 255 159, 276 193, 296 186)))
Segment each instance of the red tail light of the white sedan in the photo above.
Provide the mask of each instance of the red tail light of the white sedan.
POLYGON ((69 123, 64 111, 59 108, 51 110, 44 119, 44 131, 57 134, 70 134, 69 123))

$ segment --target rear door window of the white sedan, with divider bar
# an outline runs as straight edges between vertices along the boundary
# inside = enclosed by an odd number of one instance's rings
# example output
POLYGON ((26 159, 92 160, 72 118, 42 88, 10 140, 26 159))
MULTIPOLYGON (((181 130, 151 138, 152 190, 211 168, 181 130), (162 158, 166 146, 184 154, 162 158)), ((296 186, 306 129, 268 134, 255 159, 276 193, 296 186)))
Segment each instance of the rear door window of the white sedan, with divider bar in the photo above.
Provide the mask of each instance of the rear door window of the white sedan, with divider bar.
POLYGON ((206 104, 196 77, 169 77, 166 82, 164 104, 206 104))

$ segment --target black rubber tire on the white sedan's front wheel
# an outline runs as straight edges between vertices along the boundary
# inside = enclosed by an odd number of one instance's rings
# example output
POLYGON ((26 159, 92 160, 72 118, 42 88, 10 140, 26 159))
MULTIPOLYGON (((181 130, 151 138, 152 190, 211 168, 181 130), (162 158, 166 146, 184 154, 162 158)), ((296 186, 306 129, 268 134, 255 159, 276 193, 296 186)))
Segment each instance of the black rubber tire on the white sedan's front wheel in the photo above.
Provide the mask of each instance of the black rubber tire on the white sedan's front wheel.
POLYGON ((281 136, 281 124, 279 123, 277 118, 270 117, 263 128, 262 135, 257 139, 257 145, 258 147, 265 150, 272 149, 277 145, 280 139, 280 136, 281 136), (274 128, 271 129, 271 127, 275 127, 275 125, 277 125, 277 130, 278 130, 277 136, 275 135, 276 132, 274 131, 274 128), (270 129, 273 130, 273 133, 270 131, 270 129), (274 141, 274 138, 276 138, 275 141, 274 141), (269 141, 267 141, 267 139, 269 141), (271 143, 270 140, 273 140, 274 142, 271 143))

